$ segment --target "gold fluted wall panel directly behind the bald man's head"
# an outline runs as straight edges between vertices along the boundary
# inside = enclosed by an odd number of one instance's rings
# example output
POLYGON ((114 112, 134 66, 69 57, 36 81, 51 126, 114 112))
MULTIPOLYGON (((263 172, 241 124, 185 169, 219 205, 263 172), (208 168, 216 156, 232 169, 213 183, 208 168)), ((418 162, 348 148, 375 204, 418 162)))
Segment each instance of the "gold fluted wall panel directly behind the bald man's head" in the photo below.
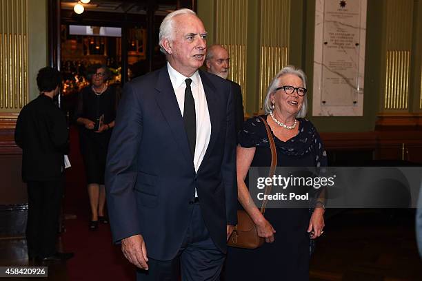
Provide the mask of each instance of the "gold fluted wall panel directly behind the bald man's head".
POLYGON ((247 96, 246 43, 248 32, 248 0, 217 0, 215 9, 216 40, 229 52, 230 72, 228 79, 242 88, 243 106, 247 96))

